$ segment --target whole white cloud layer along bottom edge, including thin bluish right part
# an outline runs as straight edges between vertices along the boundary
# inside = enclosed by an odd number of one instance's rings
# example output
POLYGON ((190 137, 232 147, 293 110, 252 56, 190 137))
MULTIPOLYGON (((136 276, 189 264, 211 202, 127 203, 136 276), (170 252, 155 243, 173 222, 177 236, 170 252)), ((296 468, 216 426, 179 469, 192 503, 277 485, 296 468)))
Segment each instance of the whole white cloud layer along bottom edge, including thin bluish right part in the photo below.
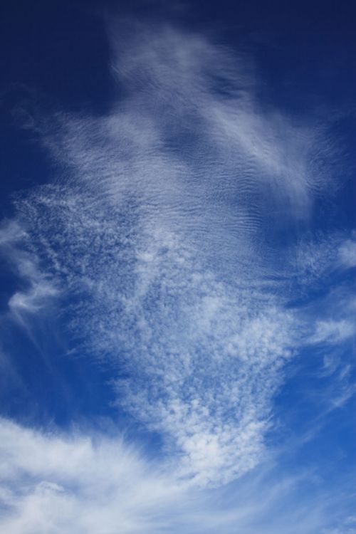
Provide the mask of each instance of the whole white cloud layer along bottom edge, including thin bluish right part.
MULTIPOLYGON (((34 431, 0 420, 0 528, 6 534, 298 534, 352 528, 338 492, 312 471, 268 461, 234 485, 189 488, 172 466, 95 432, 34 431)), ((350 508, 352 509, 352 508, 350 508)))

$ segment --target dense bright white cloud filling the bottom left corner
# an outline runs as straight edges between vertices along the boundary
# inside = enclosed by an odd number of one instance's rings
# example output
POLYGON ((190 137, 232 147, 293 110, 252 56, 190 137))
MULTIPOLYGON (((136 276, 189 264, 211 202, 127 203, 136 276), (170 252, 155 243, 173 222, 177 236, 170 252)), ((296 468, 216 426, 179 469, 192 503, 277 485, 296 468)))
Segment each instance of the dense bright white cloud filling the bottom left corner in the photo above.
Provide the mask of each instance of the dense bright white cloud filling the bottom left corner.
POLYGON ((182 495, 122 439, 0 424, 1 530, 9 534, 159 532, 182 495))

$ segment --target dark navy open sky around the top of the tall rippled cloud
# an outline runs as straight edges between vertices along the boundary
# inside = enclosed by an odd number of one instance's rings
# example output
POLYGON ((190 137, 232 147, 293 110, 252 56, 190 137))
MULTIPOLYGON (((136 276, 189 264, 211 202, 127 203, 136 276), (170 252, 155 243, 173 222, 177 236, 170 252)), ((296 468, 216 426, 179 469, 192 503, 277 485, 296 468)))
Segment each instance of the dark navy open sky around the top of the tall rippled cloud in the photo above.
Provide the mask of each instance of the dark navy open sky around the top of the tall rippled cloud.
MULTIPOLYGON (((341 124, 335 128, 336 135, 340 130, 347 132, 342 144, 352 150, 356 8, 351 1, 341 5, 336 1, 222 1, 219 7, 214 2, 176 6, 137 1, 130 2, 130 7, 115 1, 4 2, 1 210, 5 216, 11 209, 12 192, 46 182, 51 172, 51 162, 36 147, 33 133, 19 130, 26 112, 36 112, 37 106, 105 112, 120 91, 108 68, 110 46, 104 19, 112 13, 148 24, 168 20, 251 53, 263 78, 258 90, 266 106, 278 101, 279 108, 297 116, 308 116, 315 109, 324 115, 330 110, 350 110, 348 116, 342 113, 341 124)), ((347 199, 350 195, 345 195, 347 199)), ((352 203, 345 209, 352 216, 352 203)))

